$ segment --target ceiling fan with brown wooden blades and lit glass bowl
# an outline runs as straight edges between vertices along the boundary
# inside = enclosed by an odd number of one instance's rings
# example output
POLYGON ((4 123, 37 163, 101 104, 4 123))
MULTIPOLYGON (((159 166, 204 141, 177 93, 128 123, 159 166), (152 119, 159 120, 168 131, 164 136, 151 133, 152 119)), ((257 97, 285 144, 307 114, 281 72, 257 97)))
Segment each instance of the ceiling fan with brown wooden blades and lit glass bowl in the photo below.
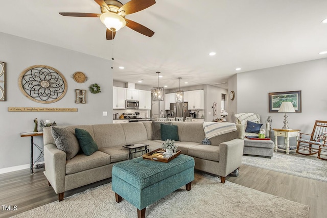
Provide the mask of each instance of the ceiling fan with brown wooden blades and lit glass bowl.
POLYGON ((149 28, 126 19, 125 15, 142 11, 155 4, 155 0, 131 0, 123 5, 116 0, 95 0, 101 8, 101 14, 94 13, 59 13, 69 17, 100 17, 101 22, 107 27, 107 40, 114 39, 116 31, 127 26, 138 33, 153 36, 154 32, 149 28))

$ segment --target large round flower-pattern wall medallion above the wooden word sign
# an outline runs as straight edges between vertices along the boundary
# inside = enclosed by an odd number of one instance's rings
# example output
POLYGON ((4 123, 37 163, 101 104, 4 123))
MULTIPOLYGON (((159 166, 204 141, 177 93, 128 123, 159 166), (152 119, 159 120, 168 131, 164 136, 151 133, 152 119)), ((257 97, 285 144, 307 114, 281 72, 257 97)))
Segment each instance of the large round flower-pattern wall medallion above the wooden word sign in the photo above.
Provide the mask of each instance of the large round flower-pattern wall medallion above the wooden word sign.
POLYGON ((64 76, 55 68, 34 65, 24 69, 18 79, 20 91, 38 103, 57 102, 67 91, 64 76))

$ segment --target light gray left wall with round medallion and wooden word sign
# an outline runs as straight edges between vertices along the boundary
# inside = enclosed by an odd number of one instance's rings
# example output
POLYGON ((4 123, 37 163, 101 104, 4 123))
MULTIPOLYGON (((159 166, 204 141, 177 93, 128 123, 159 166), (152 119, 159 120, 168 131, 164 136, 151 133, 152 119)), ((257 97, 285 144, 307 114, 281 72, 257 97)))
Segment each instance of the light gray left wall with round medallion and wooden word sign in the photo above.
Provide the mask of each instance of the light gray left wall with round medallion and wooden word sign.
MULTIPOLYGON (((7 96, 7 101, 0 102, 0 173, 2 168, 29 164, 30 137, 20 137, 19 133, 33 131, 35 118, 54 120, 58 125, 112 123, 110 61, 4 33, 0 33, 0 61, 6 62, 7 96), (32 65, 48 65, 63 74, 68 89, 61 100, 41 104, 21 93, 18 77, 22 70, 32 65), (75 82, 71 75, 76 71, 84 72, 88 80, 75 82), (92 83, 101 86, 101 93, 88 91, 92 83), (86 104, 75 104, 74 89, 87 90, 86 104), (8 112, 8 107, 78 108, 78 112, 8 112), (108 116, 102 116, 102 111, 107 111, 108 116)), ((34 137, 34 141, 43 147, 42 137, 34 137)), ((38 155, 37 151, 35 155, 38 155)))

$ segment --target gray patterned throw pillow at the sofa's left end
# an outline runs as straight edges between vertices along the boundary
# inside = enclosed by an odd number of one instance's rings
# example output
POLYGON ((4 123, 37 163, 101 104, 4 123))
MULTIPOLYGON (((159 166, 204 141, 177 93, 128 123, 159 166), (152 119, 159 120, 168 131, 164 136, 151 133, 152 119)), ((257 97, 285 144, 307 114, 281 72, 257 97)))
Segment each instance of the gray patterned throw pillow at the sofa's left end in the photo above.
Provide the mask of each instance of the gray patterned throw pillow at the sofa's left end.
POLYGON ((75 131, 71 127, 51 127, 52 136, 58 149, 66 152, 67 160, 72 159, 80 150, 75 131))

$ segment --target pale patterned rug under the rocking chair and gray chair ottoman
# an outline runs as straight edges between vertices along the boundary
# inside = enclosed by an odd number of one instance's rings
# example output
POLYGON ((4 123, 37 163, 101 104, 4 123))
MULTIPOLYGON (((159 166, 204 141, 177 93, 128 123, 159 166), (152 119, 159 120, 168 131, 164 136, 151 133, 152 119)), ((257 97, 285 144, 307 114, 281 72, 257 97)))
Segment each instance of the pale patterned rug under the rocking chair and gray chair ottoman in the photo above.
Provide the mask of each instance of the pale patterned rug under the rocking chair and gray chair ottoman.
POLYGON ((317 156, 304 156, 294 152, 289 155, 274 152, 269 158, 243 156, 242 163, 271 171, 327 182, 327 161, 317 156))

